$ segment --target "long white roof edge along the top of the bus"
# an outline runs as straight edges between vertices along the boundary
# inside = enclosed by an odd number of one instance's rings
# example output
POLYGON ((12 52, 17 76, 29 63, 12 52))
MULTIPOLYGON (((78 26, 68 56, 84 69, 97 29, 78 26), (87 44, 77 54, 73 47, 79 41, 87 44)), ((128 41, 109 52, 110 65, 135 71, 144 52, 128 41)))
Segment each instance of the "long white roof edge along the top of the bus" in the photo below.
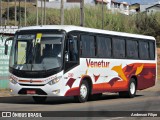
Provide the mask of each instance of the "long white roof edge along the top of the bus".
POLYGON ((115 31, 109 31, 109 30, 101 30, 101 29, 94 29, 94 28, 87 28, 87 27, 80 27, 80 26, 73 26, 73 25, 43 25, 43 26, 29 26, 29 27, 23 27, 19 30, 40 30, 40 29, 62 29, 66 32, 70 32, 73 30, 76 31, 82 31, 82 32, 91 32, 91 33, 103 33, 108 35, 115 35, 115 36, 123 36, 123 37, 132 37, 132 38, 141 38, 141 39, 150 39, 155 40, 152 36, 146 36, 146 35, 139 35, 139 34, 131 34, 131 33, 125 33, 125 32, 115 32, 115 31))

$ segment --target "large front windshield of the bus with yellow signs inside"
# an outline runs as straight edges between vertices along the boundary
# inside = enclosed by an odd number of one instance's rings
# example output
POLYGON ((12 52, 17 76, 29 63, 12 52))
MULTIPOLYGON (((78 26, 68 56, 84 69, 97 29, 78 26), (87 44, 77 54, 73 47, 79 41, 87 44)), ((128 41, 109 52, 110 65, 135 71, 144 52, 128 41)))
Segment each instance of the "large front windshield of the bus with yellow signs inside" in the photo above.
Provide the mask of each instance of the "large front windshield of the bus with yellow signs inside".
POLYGON ((63 39, 64 34, 18 34, 10 54, 10 67, 27 71, 61 67, 63 39))

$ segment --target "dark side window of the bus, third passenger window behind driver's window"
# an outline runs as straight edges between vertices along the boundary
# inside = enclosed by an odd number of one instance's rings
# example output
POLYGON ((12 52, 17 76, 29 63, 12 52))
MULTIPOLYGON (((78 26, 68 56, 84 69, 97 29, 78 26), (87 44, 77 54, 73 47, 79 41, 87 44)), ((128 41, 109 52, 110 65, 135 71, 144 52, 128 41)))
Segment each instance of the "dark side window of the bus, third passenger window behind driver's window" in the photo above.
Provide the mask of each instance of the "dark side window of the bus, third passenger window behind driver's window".
POLYGON ((125 40, 113 38, 114 58, 125 58, 125 40))

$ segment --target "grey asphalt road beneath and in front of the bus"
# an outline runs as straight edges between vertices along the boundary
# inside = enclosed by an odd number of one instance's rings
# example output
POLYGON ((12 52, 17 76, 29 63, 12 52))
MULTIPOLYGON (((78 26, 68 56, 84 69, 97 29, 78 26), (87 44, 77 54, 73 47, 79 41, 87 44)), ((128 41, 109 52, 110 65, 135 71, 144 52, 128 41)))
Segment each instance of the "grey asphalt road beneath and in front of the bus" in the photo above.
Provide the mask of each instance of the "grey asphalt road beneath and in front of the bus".
MULTIPOLYGON (((102 98, 94 101, 88 101, 86 103, 75 103, 73 97, 56 97, 47 98, 45 104, 35 104, 32 97, 22 97, 22 96, 6 96, 0 97, 0 111, 71 111, 68 116, 72 116, 75 111, 100 111, 106 112, 110 111, 116 113, 115 111, 159 111, 160 113, 160 81, 155 87, 146 89, 143 91, 137 91, 135 98, 119 98, 118 94, 105 93, 102 98)), ((76 117, 76 119, 88 120, 88 119, 100 119, 100 120, 134 120, 135 117, 124 117, 124 116, 102 116, 93 117, 94 113, 88 115, 87 117, 76 117)), ((160 115, 160 114, 159 114, 160 115)), ((70 120, 71 118, 65 117, 59 119, 70 120)), ((5 119, 5 118, 0 118, 5 119)), ((17 118, 16 118, 17 119, 17 118)), ((40 118, 38 118, 40 119, 40 118)), ((41 118, 43 119, 43 118, 41 118)), ((50 118, 45 118, 50 119, 50 118)), ((57 118, 55 118, 57 119, 57 118)), ((141 120, 158 120, 160 118, 144 118, 138 117, 141 120)))

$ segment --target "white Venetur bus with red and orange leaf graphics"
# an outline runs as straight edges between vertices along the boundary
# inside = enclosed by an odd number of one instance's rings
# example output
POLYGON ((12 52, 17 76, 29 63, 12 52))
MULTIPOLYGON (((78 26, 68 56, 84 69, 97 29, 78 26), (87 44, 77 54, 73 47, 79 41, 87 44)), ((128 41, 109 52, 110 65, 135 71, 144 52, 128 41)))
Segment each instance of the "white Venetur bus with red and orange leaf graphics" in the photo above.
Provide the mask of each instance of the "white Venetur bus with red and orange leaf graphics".
POLYGON ((24 27, 10 53, 11 94, 35 102, 47 96, 85 102, 104 92, 133 98, 136 90, 155 85, 155 51, 151 36, 70 25, 24 27))

